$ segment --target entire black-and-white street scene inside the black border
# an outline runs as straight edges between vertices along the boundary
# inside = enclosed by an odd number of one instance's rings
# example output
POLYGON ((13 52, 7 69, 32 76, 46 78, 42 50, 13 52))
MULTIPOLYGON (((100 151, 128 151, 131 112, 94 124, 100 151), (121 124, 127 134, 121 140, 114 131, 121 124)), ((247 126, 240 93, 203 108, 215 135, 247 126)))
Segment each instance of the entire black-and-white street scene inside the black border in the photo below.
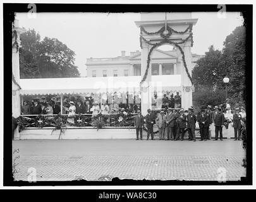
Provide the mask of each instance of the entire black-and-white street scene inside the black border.
POLYGON ((13 181, 247 177, 242 10, 25 8, 11 22, 13 181))

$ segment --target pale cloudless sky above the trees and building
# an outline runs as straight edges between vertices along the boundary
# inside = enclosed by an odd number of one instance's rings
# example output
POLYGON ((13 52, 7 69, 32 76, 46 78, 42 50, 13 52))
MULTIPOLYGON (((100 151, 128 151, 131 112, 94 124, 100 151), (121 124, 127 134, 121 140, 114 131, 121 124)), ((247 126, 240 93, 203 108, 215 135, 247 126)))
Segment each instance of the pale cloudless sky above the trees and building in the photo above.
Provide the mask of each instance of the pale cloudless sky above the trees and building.
MULTIPOLYGON (((117 57, 140 50, 140 13, 17 13, 19 26, 34 28, 41 36, 57 38, 75 51, 75 65, 81 76, 86 76, 86 59, 90 57, 117 57)), ((204 54, 210 45, 221 50, 226 37, 243 25, 240 13, 219 16, 216 13, 192 13, 197 18, 193 27, 192 52, 204 54)), ((164 20, 164 19, 163 19, 164 20)), ((168 50, 169 47, 162 47, 168 50)))

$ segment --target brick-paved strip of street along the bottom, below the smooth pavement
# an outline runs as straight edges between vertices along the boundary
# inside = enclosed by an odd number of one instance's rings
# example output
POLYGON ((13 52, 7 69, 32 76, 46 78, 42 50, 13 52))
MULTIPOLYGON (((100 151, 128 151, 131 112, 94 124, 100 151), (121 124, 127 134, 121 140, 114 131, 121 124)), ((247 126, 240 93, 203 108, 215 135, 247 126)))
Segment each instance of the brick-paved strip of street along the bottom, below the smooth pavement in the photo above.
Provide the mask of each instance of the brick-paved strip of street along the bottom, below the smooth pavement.
POLYGON ((15 180, 27 181, 36 169, 37 181, 107 181, 119 179, 217 181, 217 169, 226 169, 227 181, 245 177, 243 157, 205 156, 32 156, 18 158, 15 180))

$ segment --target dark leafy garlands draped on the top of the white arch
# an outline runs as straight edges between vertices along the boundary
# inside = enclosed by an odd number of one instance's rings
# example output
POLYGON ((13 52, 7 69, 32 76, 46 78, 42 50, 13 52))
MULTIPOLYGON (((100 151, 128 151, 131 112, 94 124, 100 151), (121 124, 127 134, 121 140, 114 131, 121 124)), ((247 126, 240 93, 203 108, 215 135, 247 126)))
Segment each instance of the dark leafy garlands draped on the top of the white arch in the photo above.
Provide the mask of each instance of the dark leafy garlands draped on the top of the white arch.
POLYGON ((150 48, 149 50, 149 54, 148 54, 148 57, 147 57, 147 69, 145 71, 145 74, 142 78, 142 81, 140 81, 140 83, 143 83, 143 81, 146 80, 147 78, 147 75, 148 75, 148 72, 149 72, 149 66, 150 66, 150 61, 151 61, 151 54, 152 54, 152 51, 156 48, 156 47, 159 47, 163 44, 171 44, 171 45, 174 45, 175 47, 177 47, 180 52, 181 52, 181 55, 182 55, 182 60, 183 60, 183 64, 184 64, 184 67, 185 67, 185 70, 186 70, 186 74, 188 75, 188 78, 190 79, 192 85, 193 85, 193 81, 192 81, 192 76, 190 75, 190 73, 188 72, 188 68, 186 66, 186 60, 185 60, 185 54, 183 52, 183 50, 181 49, 180 45, 179 44, 184 44, 188 39, 191 39, 191 46, 193 46, 193 33, 192 33, 192 24, 190 24, 188 26, 188 28, 186 28, 185 31, 183 32, 178 32, 176 30, 173 30, 173 28, 171 27, 167 27, 167 30, 168 30, 168 33, 165 35, 163 32, 165 30, 165 27, 162 27, 160 30, 158 30, 157 32, 147 32, 143 27, 140 27, 140 47, 142 48, 142 40, 144 42, 146 42, 147 44, 149 45, 152 45, 152 47, 150 48), (174 32, 174 33, 186 33, 187 31, 190 31, 190 34, 188 35, 188 37, 186 37, 185 40, 181 40, 181 42, 173 42, 171 39, 169 39, 169 37, 171 36, 171 33, 174 32), (147 33, 149 35, 153 35, 153 34, 159 34, 161 35, 161 37, 163 38, 163 40, 159 43, 151 43, 149 42, 148 40, 146 40, 144 37, 142 37, 142 32, 144 33, 147 33))

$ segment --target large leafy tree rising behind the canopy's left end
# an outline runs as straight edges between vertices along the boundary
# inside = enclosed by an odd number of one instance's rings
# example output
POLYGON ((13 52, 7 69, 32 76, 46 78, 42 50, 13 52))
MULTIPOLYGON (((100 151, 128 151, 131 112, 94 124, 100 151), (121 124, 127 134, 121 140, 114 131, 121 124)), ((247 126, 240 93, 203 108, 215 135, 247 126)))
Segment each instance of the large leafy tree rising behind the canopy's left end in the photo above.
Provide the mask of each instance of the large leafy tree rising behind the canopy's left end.
POLYGON ((58 39, 45 37, 35 30, 21 34, 20 76, 21 78, 79 77, 74 65, 75 52, 58 39))

